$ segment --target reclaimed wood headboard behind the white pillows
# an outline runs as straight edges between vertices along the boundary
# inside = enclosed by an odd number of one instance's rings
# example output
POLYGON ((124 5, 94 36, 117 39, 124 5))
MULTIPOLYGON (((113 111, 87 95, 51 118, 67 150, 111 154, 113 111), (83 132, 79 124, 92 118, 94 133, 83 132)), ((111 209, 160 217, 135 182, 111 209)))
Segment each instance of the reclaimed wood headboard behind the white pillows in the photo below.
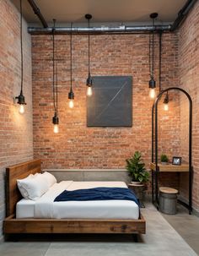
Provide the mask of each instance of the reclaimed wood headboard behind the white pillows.
POLYGON ((26 161, 6 168, 6 215, 15 215, 16 204, 22 199, 17 187, 17 179, 40 172, 40 160, 26 161))

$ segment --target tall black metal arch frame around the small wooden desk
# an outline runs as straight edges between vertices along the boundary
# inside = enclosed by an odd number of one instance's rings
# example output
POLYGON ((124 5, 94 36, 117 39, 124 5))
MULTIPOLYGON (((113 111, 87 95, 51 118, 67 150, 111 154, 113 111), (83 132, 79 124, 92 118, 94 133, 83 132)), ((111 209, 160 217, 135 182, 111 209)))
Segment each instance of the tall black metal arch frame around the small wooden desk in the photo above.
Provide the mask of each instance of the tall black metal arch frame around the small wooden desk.
POLYGON ((191 96, 186 92, 186 90, 183 90, 178 87, 170 87, 168 89, 162 90, 159 93, 156 100, 154 101, 154 104, 152 107, 152 162, 155 161, 155 171, 154 172, 152 171, 152 201, 153 201, 153 204, 155 204, 159 209, 158 104, 159 104, 159 100, 161 99, 161 96, 165 92, 168 92, 169 90, 180 90, 186 95, 186 97, 189 100, 189 203, 186 204, 180 199, 178 200, 178 202, 184 205, 189 210, 189 214, 191 214, 191 210, 192 210, 192 162, 191 162, 192 161, 192 101, 191 101, 191 96), (155 118, 154 118, 154 114, 155 114, 155 118), (155 126, 155 133, 154 133, 154 126, 155 126), (155 147, 154 147, 154 144, 155 144, 155 147), (155 154, 154 154, 154 150, 155 150, 155 154), (154 189, 154 181, 155 181, 155 189, 154 189), (155 199, 154 199, 154 193, 155 193, 155 199))

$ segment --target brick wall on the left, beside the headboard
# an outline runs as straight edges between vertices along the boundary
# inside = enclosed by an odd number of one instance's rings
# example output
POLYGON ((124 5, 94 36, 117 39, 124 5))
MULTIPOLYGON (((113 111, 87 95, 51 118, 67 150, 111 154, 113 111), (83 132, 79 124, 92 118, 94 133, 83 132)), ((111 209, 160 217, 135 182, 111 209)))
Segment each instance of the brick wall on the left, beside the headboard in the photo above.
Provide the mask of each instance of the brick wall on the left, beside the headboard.
POLYGON ((5 215, 5 167, 33 157, 31 43, 24 26, 24 115, 13 97, 20 92, 19 12, 9 1, 0 1, 0 237, 5 215))

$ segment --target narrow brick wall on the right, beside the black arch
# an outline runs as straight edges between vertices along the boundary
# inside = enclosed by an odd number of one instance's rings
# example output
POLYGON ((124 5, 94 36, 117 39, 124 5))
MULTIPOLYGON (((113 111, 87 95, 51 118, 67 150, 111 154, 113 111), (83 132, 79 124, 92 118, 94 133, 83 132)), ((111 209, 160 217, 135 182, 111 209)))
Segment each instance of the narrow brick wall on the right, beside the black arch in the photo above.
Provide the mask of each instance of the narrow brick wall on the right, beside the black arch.
MULTIPOLYGON (((193 101, 193 206, 199 210, 199 2, 191 10, 179 30, 179 69, 180 87, 189 92, 193 101)), ((181 154, 187 160, 188 143, 188 104, 181 98, 181 154)), ((187 176, 181 179, 181 191, 186 194, 187 176)))

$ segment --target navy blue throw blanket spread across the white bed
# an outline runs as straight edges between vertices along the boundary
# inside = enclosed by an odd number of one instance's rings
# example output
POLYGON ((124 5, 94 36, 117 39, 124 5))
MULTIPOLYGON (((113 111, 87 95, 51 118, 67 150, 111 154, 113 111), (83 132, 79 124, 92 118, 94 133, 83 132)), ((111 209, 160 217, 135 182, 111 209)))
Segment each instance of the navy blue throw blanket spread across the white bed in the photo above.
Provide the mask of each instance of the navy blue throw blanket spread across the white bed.
POLYGON ((136 195, 129 188, 88 188, 73 191, 64 190, 56 197, 54 202, 96 200, 131 200, 139 206, 136 195))

